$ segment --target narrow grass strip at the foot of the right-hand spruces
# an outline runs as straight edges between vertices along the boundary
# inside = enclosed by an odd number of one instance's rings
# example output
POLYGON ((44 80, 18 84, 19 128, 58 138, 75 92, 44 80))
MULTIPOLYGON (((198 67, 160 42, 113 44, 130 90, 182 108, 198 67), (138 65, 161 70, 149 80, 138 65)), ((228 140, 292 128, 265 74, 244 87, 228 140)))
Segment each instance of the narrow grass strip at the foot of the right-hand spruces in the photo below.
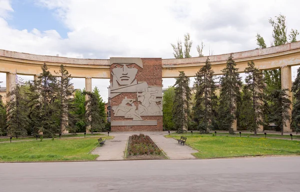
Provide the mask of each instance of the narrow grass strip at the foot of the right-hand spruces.
MULTIPOLYGON (((198 131, 193 131, 193 135, 212 135, 214 134, 214 131, 210 131, 209 134, 200 134, 198 131)), ((183 134, 177 134, 177 133, 172 133, 171 135, 191 135, 190 131, 187 131, 186 133, 183 134)), ((239 133, 235 133, 235 134, 229 134, 229 133, 220 133, 220 132, 216 132, 216 136, 230 136, 230 137, 239 137, 239 133)), ((264 138, 264 134, 263 133, 259 133, 256 134, 256 136, 254 136, 254 133, 243 133, 241 132, 241 136, 249 136, 249 137, 263 137, 264 138)), ((289 134, 288 135, 283 135, 281 136, 280 134, 272 134, 272 133, 267 133, 266 132, 266 137, 272 137, 272 138, 286 138, 286 139, 290 139, 289 134)), ((300 134, 293 133, 292 134, 292 138, 293 139, 300 139, 300 134)))

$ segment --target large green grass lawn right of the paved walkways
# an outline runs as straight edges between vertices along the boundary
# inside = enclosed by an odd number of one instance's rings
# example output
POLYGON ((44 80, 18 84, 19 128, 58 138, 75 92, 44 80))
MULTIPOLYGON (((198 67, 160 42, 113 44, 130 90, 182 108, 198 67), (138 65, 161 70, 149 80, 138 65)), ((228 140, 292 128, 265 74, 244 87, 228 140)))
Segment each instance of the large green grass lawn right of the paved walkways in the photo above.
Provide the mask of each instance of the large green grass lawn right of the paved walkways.
MULTIPOLYGON (((166 136, 180 139, 180 135, 166 136)), ((213 137, 184 135, 186 144, 199 150, 193 155, 200 159, 258 155, 300 155, 300 141, 251 137, 213 137)))

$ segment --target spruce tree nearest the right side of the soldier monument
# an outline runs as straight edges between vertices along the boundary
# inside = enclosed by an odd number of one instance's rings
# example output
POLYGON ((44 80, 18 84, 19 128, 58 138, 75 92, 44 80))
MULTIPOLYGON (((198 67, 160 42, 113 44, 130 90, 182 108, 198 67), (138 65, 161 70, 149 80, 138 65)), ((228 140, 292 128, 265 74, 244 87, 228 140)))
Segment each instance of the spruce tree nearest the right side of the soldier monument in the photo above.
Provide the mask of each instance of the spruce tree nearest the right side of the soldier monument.
POLYGON ((174 105, 172 109, 173 121, 175 129, 178 133, 187 131, 187 123, 189 120, 189 101, 190 88, 189 78, 185 76, 183 71, 179 71, 179 76, 175 82, 174 105))

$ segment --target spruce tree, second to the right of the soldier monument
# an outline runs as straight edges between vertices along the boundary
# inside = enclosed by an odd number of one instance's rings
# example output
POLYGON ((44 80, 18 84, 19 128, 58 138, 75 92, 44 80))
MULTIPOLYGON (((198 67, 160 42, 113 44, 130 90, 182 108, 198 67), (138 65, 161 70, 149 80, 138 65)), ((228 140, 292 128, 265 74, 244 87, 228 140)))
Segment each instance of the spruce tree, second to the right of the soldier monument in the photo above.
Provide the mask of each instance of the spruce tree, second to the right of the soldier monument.
POLYGON ((213 100, 215 96, 215 83, 213 81, 213 70, 209 58, 207 57, 205 65, 198 70, 195 77, 196 94, 195 106, 193 111, 198 119, 198 130, 200 132, 209 132, 212 129, 212 122, 215 118, 213 113, 213 100))

